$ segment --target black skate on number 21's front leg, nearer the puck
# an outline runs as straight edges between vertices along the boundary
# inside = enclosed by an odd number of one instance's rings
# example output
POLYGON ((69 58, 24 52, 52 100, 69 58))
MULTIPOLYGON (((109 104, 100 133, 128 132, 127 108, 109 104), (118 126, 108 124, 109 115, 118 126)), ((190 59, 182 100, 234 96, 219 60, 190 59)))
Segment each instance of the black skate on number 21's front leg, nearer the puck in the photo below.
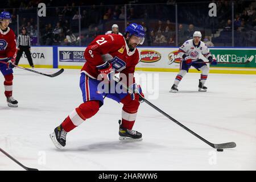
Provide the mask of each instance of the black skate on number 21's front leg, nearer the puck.
POLYGON ((121 120, 119 123, 119 140, 127 140, 127 141, 137 141, 142 140, 142 134, 138 131, 124 129, 121 127, 121 120))

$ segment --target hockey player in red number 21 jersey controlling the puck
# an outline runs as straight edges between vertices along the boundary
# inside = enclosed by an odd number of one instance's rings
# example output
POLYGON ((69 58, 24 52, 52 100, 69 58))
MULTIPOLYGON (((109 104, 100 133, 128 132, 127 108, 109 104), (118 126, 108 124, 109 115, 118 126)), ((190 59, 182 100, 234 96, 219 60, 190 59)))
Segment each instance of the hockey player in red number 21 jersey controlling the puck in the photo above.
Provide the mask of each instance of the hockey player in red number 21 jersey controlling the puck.
MULTIPOLYGON (((122 122, 119 122, 119 139, 142 140, 142 134, 132 130, 138 107, 139 94, 143 96, 139 85, 133 76, 135 65, 139 61, 139 52, 136 48, 144 41, 144 29, 141 25, 131 23, 125 30, 125 35, 99 35, 85 49, 86 63, 81 69, 80 88, 84 103, 72 111, 67 118, 50 134, 52 142, 57 148, 66 144, 66 135, 86 119, 95 115, 104 104, 104 97, 111 98, 123 104, 122 122), (111 83, 115 73, 121 73, 127 78, 126 85, 134 92, 118 93, 102 92, 98 85, 102 80, 111 83)), ((115 82, 115 84, 117 84, 115 82)), ((110 84, 111 85, 111 84, 110 84)), ((109 89, 108 89, 109 91, 109 89)))

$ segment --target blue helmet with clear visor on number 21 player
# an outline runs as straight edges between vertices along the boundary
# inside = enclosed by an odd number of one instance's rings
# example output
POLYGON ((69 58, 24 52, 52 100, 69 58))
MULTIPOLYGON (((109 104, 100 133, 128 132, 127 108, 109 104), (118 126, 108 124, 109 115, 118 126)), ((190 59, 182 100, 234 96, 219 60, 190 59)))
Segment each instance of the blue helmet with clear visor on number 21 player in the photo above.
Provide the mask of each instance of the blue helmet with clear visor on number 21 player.
POLYGON ((127 26, 125 28, 125 35, 127 33, 129 33, 129 36, 135 35, 138 38, 141 38, 142 40, 141 40, 141 43, 139 43, 139 44, 143 44, 145 31, 144 31, 144 28, 140 24, 137 24, 137 23, 129 24, 129 26, 127 26))

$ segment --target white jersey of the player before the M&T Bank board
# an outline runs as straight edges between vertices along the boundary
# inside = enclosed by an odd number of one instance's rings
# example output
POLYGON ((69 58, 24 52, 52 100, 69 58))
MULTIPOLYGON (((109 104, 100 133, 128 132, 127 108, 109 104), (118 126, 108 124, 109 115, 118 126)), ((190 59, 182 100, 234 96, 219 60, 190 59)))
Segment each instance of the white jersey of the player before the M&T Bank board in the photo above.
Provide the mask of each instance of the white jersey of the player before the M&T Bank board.
POLYGON ((208 59, 208 57, 212 56, 210 54, 210 51, 205 45, 204 42, 201 42, 198 44, 198 46, 195 46, 193 39, 187 40, 183 43, 183 45, 179 48, 179 57, 184 59, 184 55, 191 56, 192 61, 196 61, 199 59, 200 54, 202 54, 204 57, 208 59))

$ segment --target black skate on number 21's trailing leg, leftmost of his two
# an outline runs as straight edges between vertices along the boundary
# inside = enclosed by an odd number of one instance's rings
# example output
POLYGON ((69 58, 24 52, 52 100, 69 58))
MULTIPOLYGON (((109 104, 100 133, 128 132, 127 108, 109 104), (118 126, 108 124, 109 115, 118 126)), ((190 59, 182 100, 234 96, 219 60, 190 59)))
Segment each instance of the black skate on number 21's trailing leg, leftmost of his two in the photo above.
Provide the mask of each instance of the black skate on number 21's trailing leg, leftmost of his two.
POLYGON ((54 129, 54 132, 50 134, 53 144, 59 149, 65 147, 66 136, 67 131, 65 131, 61 125, 56 127, 56 129, 54 129))

